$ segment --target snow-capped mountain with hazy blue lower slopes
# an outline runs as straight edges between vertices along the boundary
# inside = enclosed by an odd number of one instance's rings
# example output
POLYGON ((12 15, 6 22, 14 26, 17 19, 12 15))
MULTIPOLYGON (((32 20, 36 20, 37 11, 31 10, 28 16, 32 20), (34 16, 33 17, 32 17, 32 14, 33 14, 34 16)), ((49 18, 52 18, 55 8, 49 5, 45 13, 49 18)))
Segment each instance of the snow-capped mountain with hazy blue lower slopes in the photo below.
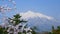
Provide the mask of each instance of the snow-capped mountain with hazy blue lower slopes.
POLYGON ((22 18, 28 21, 29 26, 36 26, 38 31, 51 31, 52 26, 55 28, 60 25, 60 21, 51 16, 44 15, 33 11, 20 13, 22 18))

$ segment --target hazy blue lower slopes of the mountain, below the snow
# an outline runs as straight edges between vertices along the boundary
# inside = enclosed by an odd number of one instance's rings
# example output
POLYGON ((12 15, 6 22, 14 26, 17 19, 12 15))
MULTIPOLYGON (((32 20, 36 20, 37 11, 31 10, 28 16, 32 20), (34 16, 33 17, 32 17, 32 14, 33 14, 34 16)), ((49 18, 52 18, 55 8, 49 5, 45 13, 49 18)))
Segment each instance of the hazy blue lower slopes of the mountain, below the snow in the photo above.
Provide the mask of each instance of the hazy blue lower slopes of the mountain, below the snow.
POLYGON ((51 31, 52 26, 55 26, 55 28, 60 25, 60 22, 55 22, 48 19, 42 19, 42 18, 32 18, 28 20, 29 26, 36 26, 39 31, 51 31))

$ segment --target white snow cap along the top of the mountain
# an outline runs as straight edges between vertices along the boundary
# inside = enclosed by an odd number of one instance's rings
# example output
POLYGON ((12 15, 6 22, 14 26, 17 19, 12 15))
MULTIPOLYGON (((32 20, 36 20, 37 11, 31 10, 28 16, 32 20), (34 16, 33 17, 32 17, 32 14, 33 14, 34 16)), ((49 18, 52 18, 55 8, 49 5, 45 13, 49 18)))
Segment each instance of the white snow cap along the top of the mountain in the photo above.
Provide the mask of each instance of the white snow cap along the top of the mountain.
POLYGON ((27 11, 27 12, 24 12, 24 13, 20 13, 20 15, 22 15, 23 19, 30 19, 30 18, 35 18, 35 17, 46 18, 48 20, 53 19, 53 17, 46 16, 46 15, 38 13, 38 12, 37 13, 32 12, 32 11, 27 11))

